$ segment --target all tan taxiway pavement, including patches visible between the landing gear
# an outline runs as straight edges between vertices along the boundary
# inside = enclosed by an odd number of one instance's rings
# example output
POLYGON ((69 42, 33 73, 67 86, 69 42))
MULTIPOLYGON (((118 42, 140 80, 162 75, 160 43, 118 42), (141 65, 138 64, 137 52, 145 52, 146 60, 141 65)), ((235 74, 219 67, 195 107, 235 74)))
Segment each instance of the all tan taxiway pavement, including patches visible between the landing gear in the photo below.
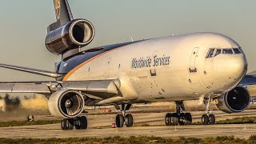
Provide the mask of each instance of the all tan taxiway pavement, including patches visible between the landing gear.
MULTIPOLYGON (((199 122, 202 112, 192 113, 194 122, 199 122)), ((255 110, 246 110, 238 114, 214 113, 217 120, 255 116, 255 110)), ((164 113, 134 114, 135 126, 131 128, 111 128, 115 115, 88 116, 87 130, 61 130, 60 124, 44 126, 18 126, 0 128, 1 138, 74 138, 74 137, 129 137, 129 136, 156 136, 156 137, 216 137, 234 135, 237 138, 249 138, 256 134, 256 124, 241 125, 212 125, 212 126, 164 126, 164 113), (151 126, 141 126, 142 124, 151 126)))

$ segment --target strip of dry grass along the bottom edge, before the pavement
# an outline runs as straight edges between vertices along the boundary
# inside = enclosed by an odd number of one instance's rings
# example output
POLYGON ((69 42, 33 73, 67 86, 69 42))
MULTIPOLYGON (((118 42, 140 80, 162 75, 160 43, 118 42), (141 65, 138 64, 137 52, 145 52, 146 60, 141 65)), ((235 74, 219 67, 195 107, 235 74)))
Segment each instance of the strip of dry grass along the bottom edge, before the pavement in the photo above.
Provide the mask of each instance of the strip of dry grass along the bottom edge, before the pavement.
POLYGON ((121 137, 110 137, 110 138, 50 138, 50 139, 31 139, 31 138, 22 138, 22 139, 10 139, 10 138, 0 138, 0 143, 225 143, 225 144, 233 144, 233 143, 255 143, 256 136, 252 135, 248 139, 242 138, 234 138, 234 136, 218 136, 216 138, 160 138, 160 137, 134 137, 131 136, 129 138, 121 138, 121 137))

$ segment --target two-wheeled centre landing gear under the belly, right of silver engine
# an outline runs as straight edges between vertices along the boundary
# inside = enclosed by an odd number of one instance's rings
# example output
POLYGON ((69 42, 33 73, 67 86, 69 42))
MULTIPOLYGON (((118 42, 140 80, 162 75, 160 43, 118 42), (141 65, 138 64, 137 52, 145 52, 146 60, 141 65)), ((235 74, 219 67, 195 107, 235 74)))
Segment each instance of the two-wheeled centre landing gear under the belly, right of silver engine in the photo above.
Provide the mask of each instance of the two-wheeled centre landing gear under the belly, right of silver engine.
POLYGON ((118 114, 115 118, 117 127, 132 127, 134 126, 134 118, 131 114, 126 114, 126 110, 130 110, 131 104, 122 103, 121 108, 118 105, 114 105, 117 110, 121 110, 122 114, 118 114))

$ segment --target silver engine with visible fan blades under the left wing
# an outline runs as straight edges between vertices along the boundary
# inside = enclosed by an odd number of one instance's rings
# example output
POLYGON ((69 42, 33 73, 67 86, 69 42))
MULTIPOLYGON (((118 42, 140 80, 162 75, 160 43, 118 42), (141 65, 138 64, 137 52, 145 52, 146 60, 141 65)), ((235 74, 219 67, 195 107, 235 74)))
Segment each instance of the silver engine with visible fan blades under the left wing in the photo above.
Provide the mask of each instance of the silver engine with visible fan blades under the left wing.
POLYGON ((50 96, 48 106, 57 118, 76 118, 84 110, 85 101, 78 91, 58 90, 50 96))

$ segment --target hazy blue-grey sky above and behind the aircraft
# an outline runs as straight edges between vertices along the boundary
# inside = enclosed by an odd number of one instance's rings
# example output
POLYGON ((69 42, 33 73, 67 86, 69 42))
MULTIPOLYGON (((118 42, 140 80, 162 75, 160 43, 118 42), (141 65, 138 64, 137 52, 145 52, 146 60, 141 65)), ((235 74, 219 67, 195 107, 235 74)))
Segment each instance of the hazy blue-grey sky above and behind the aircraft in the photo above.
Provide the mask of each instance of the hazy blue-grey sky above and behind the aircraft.
MULTIPOLYGON (((95 26, 100 46, 170 34, 211 31, 226 34, 246 53, 249 71, 256 70, 255 0, 70 0, 74 18, 95 26)), ((60 57, 45 48, 46 27, 55 21, 53 0, 0 2, 0 63, 54 70, 60 57)), ((48 80, 34 74, 0 69, 0 81, 48 80)))

